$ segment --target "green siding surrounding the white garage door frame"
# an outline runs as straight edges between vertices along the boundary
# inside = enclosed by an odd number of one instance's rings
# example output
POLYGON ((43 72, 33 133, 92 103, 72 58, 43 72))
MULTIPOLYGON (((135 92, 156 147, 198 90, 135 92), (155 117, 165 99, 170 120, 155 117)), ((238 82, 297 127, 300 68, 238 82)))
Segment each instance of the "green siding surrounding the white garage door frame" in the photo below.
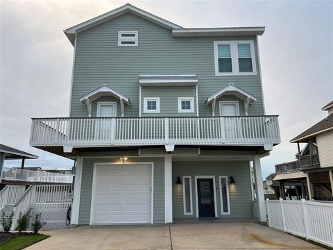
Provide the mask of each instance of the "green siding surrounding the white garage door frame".
MULTIPOLYGON (((164 158, 129 158, 128 163, 154 163, 153 223, 164 223, 164 158)), ((87 225, 92 201, 92 176, 94 163, 119 163, 117 158, 83 158, 80 209, 78 224, 87 225)))

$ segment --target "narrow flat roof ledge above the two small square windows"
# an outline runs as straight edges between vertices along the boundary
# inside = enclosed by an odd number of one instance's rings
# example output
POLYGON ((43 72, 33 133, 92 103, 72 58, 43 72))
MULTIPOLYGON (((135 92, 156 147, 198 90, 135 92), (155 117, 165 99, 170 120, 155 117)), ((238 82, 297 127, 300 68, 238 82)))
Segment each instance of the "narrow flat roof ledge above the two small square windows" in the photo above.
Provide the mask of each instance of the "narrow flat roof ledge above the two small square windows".
POLYGON ((198 84, 196 74, 186 75, 140 75, 142 86, 189 86, 198 84))

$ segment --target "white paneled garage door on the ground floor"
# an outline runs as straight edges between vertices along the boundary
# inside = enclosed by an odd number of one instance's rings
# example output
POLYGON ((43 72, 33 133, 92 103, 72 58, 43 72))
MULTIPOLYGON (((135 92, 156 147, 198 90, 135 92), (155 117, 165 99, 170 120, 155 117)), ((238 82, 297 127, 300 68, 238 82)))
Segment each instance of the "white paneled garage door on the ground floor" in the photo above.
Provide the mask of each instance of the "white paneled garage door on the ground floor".
POLYGON ((151 223, 151 166, 98 165, 93 224, 151 223))

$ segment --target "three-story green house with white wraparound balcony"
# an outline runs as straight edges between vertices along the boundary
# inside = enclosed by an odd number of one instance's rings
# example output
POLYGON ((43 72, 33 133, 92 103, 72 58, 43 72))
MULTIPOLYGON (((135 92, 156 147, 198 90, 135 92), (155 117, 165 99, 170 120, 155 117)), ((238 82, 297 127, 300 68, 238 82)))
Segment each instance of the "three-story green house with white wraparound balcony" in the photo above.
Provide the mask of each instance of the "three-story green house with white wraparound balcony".
POLYGON ((71 224, 266 222, 260 158, 280 143, 265 115, 264 27, 182 28, 126 4, 65 30, 69 117, 32 120, 31 146, 76 160, 71 224))

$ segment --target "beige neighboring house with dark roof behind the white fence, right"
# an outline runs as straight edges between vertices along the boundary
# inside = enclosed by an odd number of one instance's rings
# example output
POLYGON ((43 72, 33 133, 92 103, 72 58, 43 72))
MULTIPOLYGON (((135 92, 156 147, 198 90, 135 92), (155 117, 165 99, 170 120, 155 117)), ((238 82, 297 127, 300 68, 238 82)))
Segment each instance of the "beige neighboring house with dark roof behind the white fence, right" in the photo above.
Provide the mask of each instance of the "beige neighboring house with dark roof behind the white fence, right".
POLYGON ((333 200, 333 101, 322 110, 328 111, 325 119, 291 140, 298 144, 299 159, 275 165, 273 180, 283 199, 333 200), (306 143, 302 151, 300 143, 306 143))

